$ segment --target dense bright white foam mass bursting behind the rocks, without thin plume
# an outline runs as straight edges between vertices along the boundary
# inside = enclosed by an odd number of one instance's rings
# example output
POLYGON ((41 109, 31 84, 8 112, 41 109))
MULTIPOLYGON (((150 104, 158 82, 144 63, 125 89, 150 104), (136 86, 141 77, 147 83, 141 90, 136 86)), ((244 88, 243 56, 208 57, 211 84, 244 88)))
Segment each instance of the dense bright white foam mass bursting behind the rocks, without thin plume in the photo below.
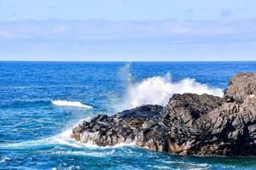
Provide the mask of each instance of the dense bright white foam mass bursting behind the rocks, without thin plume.
POLYGON ((131 107, 138 105, 166 105, 173 94, 212 94, 223 97, 221 88, 211 88, 207 84, 185 78, 180 82, 172 82, 169 73, 165 77, 150 77, 134 84, 129 91, 131 107))

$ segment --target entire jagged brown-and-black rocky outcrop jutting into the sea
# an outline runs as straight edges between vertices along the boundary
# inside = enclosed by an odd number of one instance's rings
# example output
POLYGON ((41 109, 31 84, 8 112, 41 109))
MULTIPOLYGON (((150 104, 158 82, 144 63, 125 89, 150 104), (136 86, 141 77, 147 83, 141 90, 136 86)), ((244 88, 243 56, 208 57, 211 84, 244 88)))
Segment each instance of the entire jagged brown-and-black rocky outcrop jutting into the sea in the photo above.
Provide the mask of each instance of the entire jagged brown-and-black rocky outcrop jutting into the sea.
POLYGON ((166 107, 142 105, 96 116, 73 128, 72 138, 100 146, 136 144, 186 155, 256 155, 256 73, 230 79, 224 98, 174 94, 166 107))

